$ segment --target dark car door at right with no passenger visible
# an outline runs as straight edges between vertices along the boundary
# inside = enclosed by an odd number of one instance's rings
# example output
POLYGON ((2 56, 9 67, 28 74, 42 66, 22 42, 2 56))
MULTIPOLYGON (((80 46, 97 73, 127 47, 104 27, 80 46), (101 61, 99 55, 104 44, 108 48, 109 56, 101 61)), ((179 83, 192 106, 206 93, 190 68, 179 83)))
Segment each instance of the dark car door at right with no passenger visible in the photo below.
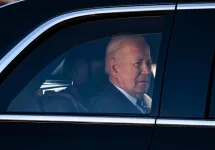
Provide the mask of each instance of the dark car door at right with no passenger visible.
POLYGON ((213 107, 214 6, 179 1, 152 150, 215 148, 214 122, 209 119, 213 114, 209 108, 213 107))

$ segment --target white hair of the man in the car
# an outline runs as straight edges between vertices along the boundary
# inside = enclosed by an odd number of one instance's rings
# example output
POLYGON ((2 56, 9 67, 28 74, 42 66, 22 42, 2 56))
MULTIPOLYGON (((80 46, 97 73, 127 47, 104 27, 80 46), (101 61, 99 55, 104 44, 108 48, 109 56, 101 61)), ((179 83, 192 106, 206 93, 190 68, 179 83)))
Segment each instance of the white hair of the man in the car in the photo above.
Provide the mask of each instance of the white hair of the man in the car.
POLYGON ((140 35, 117 35, 113 36, 111 41, 109 42, 107 49, 106 49, 106 58, 105 58, 105 72, 109 74, 109 61, 111 59, 117 59, 116 56, 120 50, 124 48, 124 45, 128 41, 133 42, 142 42, 146 44, 146 41, 143 36, 140 35))

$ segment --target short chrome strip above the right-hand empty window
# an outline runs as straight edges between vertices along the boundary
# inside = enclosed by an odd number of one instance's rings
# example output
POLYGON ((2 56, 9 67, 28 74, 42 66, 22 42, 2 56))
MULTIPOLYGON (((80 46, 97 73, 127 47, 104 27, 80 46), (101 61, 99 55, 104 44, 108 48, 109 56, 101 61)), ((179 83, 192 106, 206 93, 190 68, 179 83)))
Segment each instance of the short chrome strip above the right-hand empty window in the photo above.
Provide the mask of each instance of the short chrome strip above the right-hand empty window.
POLYGON ((177 10, 215 9, 215 3, 178 4, 177 10))

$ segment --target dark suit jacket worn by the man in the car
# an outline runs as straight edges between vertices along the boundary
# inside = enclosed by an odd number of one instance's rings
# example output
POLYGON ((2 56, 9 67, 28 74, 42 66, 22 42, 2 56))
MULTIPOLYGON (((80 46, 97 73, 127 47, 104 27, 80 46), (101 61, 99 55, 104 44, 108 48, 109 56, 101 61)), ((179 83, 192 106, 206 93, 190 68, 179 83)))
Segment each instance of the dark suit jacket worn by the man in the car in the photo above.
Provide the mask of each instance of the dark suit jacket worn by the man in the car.
POLYGON ((113 84, 108 83, 102 93, 92 99, 92 113, 142 114, 113 84))

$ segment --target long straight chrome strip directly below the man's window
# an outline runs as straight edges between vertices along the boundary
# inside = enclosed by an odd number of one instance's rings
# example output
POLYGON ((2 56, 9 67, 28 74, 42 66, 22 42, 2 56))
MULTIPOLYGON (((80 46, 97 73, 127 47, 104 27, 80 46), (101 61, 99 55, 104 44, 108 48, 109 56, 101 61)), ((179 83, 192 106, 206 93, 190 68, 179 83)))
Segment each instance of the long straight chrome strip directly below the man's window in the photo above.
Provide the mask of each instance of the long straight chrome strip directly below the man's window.
POLYGON ((0 115, 0 122, 62 122, 92 124, 154 125, 155 118, 100 117, 100 116, 54 116, 54 115, 0 115))

